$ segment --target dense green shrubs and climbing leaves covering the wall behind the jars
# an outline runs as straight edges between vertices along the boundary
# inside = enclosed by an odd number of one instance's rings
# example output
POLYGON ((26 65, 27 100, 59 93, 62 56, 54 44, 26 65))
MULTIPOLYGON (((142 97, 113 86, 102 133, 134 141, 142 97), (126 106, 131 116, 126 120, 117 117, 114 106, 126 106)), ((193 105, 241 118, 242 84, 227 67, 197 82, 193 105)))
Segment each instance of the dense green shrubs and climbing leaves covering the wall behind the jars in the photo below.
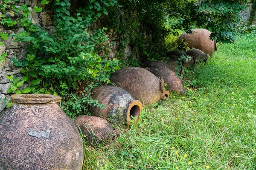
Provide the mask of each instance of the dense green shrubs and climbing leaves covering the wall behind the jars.
MULTIPOLYGON (((176 39, 185 29, 201 27, 212 31, 212 38, 231 42, 239 34, 240 3, 247 0, 88 0, 70 10, 70 0, 42 0, 41 5, 54 6, 55 27, 47 31, 29 20, 27 4, 15 6, 15 1, 0 4, 2 40, 8 36, 15 42, 29 44, 27 58, 11 59, 24 75, 20 82, 11 80, 8 92, 46 93, 63 97, 62 107, 71 117, 87 114, 87 105, 103 107, 91 99, 91 90, 109 82, 109 75, 120 67, 139 66, 145 60, 164 60, 166 51, 179 47, 176 39), (16 16, 18 15, 18 17, 16 16), (16 17, 15 17, 16 16, 16 17), (5 33, 17 22, 24 28, 18 34, 5 33), (101 23, 92 29, 93 23, 101 23), (115 58, 110 57, 107 32, 117 32, 119 45, 115 58), (167 42, 168 41, 168 42, 167 42), (127 45, 133 58, 127 58, 127 45), (135 58, 136 60, 134 60, 135 58), (18 88, 29 86, 23 91, 18 88)), ((44 9, 35 6, 35 12, 44 9)), ((3 45, 3 42, 0 42, 3 45)), ((6 53, 0 56, 3 63, 6 53)))

